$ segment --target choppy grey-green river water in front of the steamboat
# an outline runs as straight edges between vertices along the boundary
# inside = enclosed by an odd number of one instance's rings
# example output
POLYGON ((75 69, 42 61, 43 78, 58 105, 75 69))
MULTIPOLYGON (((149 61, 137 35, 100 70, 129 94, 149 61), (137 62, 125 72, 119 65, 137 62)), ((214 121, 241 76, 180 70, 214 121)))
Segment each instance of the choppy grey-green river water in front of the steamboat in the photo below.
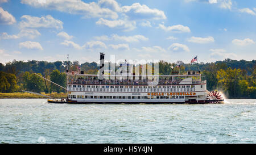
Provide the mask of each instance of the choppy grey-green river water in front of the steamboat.
POLYGON ((53 104, 0 99, 0 143, 256 143, 256 99, 53 104))

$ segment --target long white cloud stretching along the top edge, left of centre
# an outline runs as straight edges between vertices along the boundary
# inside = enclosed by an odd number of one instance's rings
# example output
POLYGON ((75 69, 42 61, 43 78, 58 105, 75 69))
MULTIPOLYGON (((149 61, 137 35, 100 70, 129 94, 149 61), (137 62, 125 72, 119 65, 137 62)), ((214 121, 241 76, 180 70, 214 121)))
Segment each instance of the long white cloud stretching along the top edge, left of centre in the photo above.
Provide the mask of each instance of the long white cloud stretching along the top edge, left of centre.
MULTIPOLYGON (((81 0, 22 0, 21 3, 44 9, 67 12, 69 14, 84 15, 85 18, 112 18, 117 19, 118 14, 108 8, 101 8, 98 3, 85 3, 81 0)), ((101 1, 101 5, 106 4, 101 1)))

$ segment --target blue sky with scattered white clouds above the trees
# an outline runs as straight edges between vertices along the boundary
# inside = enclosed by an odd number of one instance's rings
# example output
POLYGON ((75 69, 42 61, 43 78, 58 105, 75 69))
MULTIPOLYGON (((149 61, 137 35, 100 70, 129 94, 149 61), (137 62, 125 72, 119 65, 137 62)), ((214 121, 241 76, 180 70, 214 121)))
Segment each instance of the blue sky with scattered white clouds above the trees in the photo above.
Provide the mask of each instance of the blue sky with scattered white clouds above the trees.
POLYGON ((0 62, 255 60, 255 0, 0 0, 0 62))

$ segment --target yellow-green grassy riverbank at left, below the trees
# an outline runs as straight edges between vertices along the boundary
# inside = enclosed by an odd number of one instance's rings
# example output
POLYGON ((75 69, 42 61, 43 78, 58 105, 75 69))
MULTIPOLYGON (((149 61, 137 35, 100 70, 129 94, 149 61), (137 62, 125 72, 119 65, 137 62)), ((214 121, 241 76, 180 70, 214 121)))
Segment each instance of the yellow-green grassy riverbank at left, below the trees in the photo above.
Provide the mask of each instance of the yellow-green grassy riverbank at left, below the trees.
MULTIPOLYGON (((41 93, 43 95, 47 95, 52 98, 67 98, 67 94, 64 93, 41 93)), ((36 94, 30 93, 0 93, 0 98, 47 98, 36 94)))

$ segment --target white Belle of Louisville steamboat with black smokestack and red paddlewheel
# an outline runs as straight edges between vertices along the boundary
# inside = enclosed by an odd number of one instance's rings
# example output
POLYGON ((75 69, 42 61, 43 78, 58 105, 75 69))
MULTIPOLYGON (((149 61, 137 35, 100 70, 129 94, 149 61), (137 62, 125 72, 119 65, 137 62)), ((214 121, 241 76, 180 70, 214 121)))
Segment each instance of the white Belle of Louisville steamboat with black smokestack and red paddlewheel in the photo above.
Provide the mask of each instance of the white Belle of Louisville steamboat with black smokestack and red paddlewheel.
MULTIPOLYGON (((100 68, 104 67, 104 53, 100 53, 100 68)), ((129 66, 125 64, 121 64, 129 66)), ((207 80, 200 71, 171 75, 129 74, 121 72, 114 78, 104 72, 84 74, 67 69, 67 99, 49 103, 223 103, 220 92, 208 91, 207 80), (158 78, 157 82, 154 79, 158 78)))

